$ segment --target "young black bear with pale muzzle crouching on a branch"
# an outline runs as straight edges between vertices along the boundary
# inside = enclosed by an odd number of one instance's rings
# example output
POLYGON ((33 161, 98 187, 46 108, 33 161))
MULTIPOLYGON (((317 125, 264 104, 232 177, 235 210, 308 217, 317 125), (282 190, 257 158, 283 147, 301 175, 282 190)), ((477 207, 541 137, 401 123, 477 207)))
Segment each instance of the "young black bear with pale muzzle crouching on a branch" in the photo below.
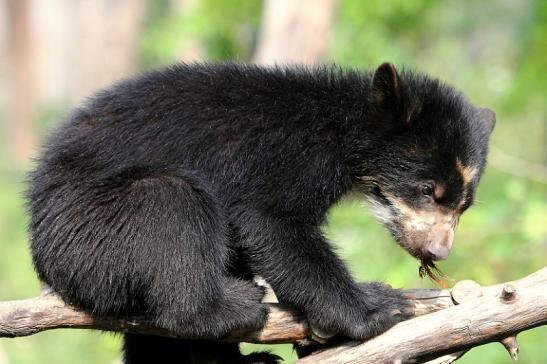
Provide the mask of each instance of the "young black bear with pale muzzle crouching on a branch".
POLYGON ((181 64, 99 92, 48 140, 28 191, 39 278, 126 335, 126 363, 275 362, 222 338, 259 328, 262 276, 318 332, 377 335, 411 315, 357 285, 322 235, 358 191, 410 254, 450 251, 485 166, 492 111, 425 75, 181 64), (165 359, 167 362, 168 359, 165 359))

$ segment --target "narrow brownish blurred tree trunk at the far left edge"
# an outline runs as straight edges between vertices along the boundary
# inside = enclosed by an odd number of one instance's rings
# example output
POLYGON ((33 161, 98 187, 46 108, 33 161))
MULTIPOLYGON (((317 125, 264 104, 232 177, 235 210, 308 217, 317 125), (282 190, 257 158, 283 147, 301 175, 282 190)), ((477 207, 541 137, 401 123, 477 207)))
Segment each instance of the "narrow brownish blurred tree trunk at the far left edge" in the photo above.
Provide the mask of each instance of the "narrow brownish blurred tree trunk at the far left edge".
POLYGON ((7 120, 10 151, 23 164, 33 150, 32 117, 35 105, 34 67, 30 42, 29 2, 8 0, 8 74, 11 91, 7 120))

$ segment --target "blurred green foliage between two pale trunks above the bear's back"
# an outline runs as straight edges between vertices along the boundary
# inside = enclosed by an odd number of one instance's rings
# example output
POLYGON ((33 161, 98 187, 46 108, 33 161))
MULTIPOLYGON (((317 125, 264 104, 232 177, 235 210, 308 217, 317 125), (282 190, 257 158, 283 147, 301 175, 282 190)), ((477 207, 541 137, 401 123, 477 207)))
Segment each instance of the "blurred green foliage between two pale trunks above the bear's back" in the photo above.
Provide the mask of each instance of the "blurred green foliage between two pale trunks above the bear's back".
POLYGON ((169 1, 150 2, 141 39, 143 67, 172 63, 185 51, 216 60, 252 56, 260 26, 260 1, 189 1, 179 11, 173 10, 169 1))

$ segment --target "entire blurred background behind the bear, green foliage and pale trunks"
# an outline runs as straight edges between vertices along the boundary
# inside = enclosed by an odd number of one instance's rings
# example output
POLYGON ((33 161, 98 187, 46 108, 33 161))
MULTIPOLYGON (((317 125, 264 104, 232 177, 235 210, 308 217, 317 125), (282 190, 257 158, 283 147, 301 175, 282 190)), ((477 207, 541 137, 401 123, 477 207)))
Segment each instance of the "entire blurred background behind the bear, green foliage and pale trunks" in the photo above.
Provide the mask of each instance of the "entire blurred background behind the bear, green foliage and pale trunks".
MULTIPOLYGON (((22 192, 40 140, 94 90, 178 60, 391 61, 454 84, 496 110, 497 125, 476 206, 441 269, 492 284, 547 265, 547 1, 277 1, 0 0, 0 300, 39 291, 22 192)), ((325 231, 357 279, 432 286, 361 202, 336 206, 325 231)), ((519 341, 521 363, 547 362, 547 327, 519 341)), ((0 364, 116 363, 120 342, 84 330, 0 339, 0 364)), ((289 345, 270 348, 295 360, 289 345)), ((460 362, 510 358, 490 344, 460 362)))

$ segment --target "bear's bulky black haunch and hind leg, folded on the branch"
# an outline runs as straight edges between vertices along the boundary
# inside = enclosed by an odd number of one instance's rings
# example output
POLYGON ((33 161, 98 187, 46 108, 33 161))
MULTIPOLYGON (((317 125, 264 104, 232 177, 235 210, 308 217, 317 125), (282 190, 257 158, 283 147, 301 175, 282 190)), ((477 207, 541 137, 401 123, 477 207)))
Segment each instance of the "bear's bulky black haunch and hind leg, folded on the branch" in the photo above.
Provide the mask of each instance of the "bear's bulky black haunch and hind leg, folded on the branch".
POLYGON ((33 191, 31 233, 40 278, 67 302, 186 337, 263 324, 262 290, 228 276, 226 219, 198 176, 130 167, 59 181, 33 191))

